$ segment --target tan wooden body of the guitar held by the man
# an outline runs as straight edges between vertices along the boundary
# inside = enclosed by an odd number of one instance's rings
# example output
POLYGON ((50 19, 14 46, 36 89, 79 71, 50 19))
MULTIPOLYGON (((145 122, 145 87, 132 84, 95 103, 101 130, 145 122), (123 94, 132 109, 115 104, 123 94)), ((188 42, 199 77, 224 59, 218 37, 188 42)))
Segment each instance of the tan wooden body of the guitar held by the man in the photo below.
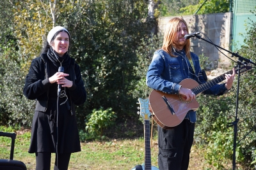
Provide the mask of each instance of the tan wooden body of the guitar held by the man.
MULTIPOLYGON (((193 89, 199 85, 195 80, 189 78, 180 81, 179 84, 186 89, 193 89)), ((166 94, 157 90, 152 90, 149 101, 154 120, 164 129, 172 129, 179 125, 189 110, 197 110, 199 107, 196 99, 186 101, 180 94, 166 94), (171 110, 163 97, 170 103, 171 110)))

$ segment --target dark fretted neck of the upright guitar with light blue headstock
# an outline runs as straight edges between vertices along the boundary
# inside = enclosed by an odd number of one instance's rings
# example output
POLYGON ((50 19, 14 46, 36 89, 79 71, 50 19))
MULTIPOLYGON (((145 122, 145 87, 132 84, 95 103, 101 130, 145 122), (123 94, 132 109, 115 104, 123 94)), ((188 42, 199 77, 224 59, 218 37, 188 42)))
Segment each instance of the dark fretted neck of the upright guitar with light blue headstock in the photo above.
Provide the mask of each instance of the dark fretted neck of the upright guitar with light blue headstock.
POLYGON ((151 170, 151 153, 150 153, 150 123, 144 120, 144 141, 145 141, 145 170, 151 170))

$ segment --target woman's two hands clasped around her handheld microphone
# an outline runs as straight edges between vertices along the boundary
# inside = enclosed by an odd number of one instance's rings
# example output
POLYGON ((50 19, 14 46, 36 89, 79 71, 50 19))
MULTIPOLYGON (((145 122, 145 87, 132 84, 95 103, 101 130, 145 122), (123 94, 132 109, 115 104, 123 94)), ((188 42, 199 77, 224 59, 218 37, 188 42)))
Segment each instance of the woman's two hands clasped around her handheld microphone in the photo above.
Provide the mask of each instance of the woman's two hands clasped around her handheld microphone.
POLYGON ((62 73, 62 72, 56 72, 53 76, 49 78, 50 83, 57 83, 58 85, 61 85, 62 87, 72 87, 73 82, 70 80, 67 80, 65 76, 68 76, 69 74, 62 73))

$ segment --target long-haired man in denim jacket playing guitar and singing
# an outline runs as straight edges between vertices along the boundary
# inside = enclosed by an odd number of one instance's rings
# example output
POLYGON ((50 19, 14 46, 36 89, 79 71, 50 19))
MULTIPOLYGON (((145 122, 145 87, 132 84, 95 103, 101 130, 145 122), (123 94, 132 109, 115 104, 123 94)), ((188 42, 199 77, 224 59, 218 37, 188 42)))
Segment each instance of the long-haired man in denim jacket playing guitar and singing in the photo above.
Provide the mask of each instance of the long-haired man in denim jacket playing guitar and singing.
MULTIPOLYGON (((190 52, 190 41, 185 39, 188 25, 183 18, 172 18, 166 25, 163 46, 154 53, 147 72, 148 87, 167 94, 180 94, 186 101, 195 99, 191 89, 179 85, 180 81, 191 78, 199 84, 205 83, 199 58, 190 52)), ((222 95, 231 89, 236 73, 226 74, 226 83, 214 85, 204 94, 222 95)), ((160 170, 188 169, 189 153, 193 143, 196 112, 188 111, 184 120, 172 129, 158 126, 160 170)))

